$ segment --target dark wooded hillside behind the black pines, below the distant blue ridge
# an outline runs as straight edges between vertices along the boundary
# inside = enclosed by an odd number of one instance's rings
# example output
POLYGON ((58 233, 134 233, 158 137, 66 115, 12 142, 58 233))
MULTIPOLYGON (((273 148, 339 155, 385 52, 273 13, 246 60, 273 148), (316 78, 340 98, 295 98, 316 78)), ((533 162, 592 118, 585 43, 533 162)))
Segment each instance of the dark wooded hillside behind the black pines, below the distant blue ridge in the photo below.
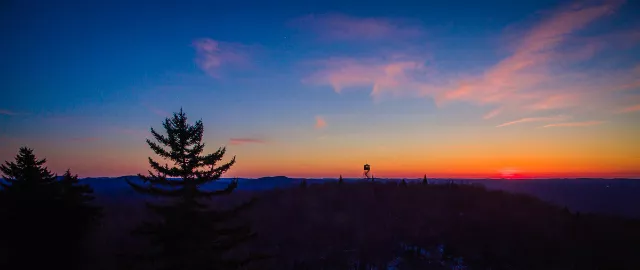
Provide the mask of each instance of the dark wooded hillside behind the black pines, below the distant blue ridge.
MULTIPOLYGON (((268 187, 241 183, 213 202, 225 207, 257 198, 243 218, 258 236, 236 252, 270 258, 251 269, 640 268, 638 219, 581 213, 470 182, 309 181, 302 187, 269 180, 268 187)), ((88 243, 87 267, 122 269, 120 255, 145 246, 129 232, 148 218, 144 201, 151 198, 91 184, 105 216, 88 243)))

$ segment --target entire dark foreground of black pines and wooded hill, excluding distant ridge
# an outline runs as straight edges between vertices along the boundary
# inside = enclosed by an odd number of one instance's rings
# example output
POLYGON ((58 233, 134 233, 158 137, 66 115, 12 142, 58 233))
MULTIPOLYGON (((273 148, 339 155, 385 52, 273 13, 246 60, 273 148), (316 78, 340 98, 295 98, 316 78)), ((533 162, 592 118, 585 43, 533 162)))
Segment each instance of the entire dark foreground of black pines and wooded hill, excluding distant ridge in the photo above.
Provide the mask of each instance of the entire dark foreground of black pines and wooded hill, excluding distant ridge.
POLYGON ((149 195, 96 205, 33 150, 0 167, 0 269, 638 269, 640 221, 572 213, 478 185, 363 181, 203 189, 235 164, 204 154, 182 110, 151 129, 149 195))

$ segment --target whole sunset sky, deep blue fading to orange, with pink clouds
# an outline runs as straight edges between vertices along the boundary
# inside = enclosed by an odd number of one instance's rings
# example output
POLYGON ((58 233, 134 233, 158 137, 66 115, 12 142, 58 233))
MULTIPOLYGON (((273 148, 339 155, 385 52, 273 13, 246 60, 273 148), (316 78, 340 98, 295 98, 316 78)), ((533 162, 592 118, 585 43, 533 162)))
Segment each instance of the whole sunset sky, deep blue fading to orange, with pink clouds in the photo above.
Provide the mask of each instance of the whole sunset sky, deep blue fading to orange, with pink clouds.
POLYGON ((2 1, 0 160, 146 173, 183 108, 228 177, 640 177, 640 1, 159 2, 2 1))

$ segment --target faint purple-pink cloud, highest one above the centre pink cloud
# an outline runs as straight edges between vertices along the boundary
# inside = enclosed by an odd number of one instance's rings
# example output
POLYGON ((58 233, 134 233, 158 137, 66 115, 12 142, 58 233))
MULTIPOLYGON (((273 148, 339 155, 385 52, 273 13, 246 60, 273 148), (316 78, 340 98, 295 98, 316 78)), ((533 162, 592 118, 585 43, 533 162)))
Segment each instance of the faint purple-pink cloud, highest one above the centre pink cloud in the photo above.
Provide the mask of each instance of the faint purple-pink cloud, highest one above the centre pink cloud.
POLYGON ((371 41, 403 39, 423 34, 416 24, 399 19, 359 18, 344 14, 313 14, 297 18, 291 25, 311 31, 323 40, 371 41))

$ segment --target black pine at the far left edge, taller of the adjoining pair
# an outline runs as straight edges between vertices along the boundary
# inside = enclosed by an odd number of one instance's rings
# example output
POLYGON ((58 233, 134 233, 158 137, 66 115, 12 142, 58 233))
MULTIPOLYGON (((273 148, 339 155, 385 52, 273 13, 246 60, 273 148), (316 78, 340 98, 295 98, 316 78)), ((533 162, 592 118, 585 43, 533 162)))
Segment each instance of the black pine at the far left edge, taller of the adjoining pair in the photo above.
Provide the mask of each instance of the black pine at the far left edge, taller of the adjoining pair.
POLYGON ((45 163, 46 159, 38 160, 32 149, 22 147, 14 162, 0 165, 4 178, 0 183, 0 230, 4 232, 0 239, 0 269, 31 269, 42 266, 40 260, 55 259, 47 249, 52 247, 57 233, 57 226, 51 224, 57 218, 53 215, 57 210, 56 177, 45 163))

